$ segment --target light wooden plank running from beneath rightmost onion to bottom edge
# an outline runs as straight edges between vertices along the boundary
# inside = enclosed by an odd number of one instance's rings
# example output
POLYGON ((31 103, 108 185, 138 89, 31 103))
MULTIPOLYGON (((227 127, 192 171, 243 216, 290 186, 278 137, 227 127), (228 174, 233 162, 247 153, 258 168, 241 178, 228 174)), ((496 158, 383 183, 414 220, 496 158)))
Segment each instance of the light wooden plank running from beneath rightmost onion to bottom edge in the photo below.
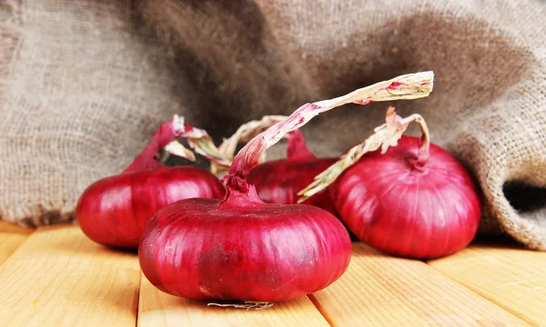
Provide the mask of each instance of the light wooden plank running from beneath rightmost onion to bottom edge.
POLYGON ((528 326, 420 261, 354 243, 349 270, 309 296, 332 326, 528 326))

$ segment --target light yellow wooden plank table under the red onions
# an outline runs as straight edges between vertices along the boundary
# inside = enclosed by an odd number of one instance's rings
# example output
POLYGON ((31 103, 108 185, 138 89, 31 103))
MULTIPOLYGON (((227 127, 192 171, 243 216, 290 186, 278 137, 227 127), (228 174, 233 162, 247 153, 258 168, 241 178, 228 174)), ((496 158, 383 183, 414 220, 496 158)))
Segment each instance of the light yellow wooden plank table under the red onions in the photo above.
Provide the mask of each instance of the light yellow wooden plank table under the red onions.
POLYGON ((75 225, 0 222, 0 326, 546 326, 546 253, 472 243, 423 263, 353 250, 328 288, 244 310, 157 291, 136 253, 93 243, 75 225))

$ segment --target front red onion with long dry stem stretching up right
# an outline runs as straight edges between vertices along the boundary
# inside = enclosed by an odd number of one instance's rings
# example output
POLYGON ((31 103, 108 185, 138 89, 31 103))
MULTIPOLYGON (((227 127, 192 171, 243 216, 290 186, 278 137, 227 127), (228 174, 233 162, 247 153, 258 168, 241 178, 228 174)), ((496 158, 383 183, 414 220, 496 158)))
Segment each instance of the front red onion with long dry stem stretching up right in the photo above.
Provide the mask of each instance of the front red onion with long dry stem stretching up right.
POLYGON ((224 177, 221 200, 187 199, 160 209, 140 240, 142 272, 159 290, 188 299, 285 301, 317 292, 349 266, 349 233, 307 204, 264 203, 248 172, 284 134, 341 104, 427 96, 431 73, 409 74, 337 99, 304 104, 251 139, 224 177), (391 89, 392 83, 407 83, 391 89), (424 84, 423 84, 424 83, 424 84))

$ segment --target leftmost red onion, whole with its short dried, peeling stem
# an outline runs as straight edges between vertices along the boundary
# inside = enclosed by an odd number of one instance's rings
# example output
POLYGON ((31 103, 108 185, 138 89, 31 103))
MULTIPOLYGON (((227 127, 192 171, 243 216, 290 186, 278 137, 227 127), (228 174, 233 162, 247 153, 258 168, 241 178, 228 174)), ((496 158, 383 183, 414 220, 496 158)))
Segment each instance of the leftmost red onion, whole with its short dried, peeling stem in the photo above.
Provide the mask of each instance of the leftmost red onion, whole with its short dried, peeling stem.
POLYGON ((148 218, 165 205, 191 197, 224 196, 224 186, 207 170, 167 167, 154 159, 167 146, 195 160, 193 153, 181 144, 172 143, 177 137, 187 137, 190 144, 211 143, 205 131, 184 124, 177 116, 172 122, 161 124, 125 171, 92 183, 81 194, 76 220, 87 237, 106 246, 136 248, 148 218))

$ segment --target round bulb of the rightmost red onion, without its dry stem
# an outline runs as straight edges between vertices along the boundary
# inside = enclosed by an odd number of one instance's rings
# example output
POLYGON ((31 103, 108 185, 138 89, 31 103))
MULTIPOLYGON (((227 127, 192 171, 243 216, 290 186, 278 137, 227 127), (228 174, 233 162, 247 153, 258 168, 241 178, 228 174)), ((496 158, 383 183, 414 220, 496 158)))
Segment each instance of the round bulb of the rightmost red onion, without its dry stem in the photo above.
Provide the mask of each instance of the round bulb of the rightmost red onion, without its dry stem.
POLYGON ((475 237, 480 197, 464 166, 430 144, 420 167, 420 138, 402 136, 385 154, 365 154, 330 185, 352 233, 386 253, 433 259, 458 252, 475 237))

